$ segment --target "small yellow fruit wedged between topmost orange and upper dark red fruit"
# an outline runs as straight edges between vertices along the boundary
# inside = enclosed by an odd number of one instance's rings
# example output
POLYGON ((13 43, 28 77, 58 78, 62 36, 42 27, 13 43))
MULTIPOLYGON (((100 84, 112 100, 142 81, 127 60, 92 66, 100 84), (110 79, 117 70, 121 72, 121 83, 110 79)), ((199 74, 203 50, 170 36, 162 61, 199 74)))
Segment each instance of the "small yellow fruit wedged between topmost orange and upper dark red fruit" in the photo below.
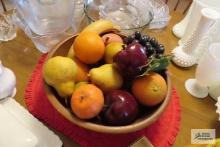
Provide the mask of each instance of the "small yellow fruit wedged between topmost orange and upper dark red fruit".
POLYGON ((112 43, 108 44, 105 48, 105 55, 104 55, 105 62, 107 64, 113 63, 114 55, 116 55, 118 52, 120 52, 124 46, 125 46, 125 44, 123 44, 121 42, 112 42, 112 43))

